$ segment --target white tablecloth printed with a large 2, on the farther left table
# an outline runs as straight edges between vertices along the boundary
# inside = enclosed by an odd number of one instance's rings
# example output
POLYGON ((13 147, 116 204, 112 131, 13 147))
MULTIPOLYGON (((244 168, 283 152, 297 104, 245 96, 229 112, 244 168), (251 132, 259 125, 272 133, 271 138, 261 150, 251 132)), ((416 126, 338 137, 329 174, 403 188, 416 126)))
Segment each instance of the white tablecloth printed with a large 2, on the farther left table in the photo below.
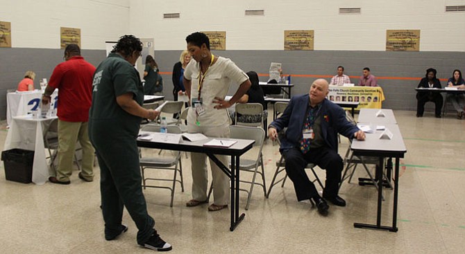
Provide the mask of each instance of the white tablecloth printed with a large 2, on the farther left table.
MULTIPOLYGON (((6 94, 6 123, 11 125, 14 116, 24 116, 33 110, 40 109, 42 91, 13 92, 6 94)), ((51 95, 51 107, 58 106, 58 89, 51 95)))

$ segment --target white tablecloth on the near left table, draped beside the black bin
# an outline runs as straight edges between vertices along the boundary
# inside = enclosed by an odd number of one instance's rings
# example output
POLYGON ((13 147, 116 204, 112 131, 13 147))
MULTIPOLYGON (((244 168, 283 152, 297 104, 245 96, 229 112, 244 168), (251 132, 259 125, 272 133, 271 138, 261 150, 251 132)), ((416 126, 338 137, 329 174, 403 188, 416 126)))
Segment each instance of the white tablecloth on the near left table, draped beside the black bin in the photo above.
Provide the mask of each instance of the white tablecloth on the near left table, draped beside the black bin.
POLYGON ((44 132, 48 129, 52 118, 32 118, 31 115, 15 116, 10 123, 3 150, 14 148, 34 151, 33 183, 44 184, 53 172, 45 159, 44 132))

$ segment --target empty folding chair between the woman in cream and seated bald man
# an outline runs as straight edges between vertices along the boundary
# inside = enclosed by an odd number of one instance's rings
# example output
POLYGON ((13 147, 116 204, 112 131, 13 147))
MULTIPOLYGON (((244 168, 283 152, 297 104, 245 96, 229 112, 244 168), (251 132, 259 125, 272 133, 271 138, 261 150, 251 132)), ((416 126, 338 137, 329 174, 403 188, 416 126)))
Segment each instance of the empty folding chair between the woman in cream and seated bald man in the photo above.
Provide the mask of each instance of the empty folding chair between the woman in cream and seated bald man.
MULTIPOLYGON (((244 192, 247 192, 247 202, 246 202, 246 210, 248 210, 248 206, 250 205, 253 186, 255 184, 262 186, 264 196, 267 197, 267 187, 265 183, 265 175, 264 175, 264 167, 263 167, 263 141, 265 138, 265 131, 262 127, 248 127, 248 126, 239 126, 239 125, 230 125, 230 138, 238 138, 238 139, 253 139, 255 143, 253 144, 253 149, 246 152, 241 156, 239 170, 243 172, 251 172, 253 173, 252 180, 247 181, 240 179, 241 183, 249 183, 251 186, 248 190, 246 189, 239 189, 244 192), (261 172, 258 170, 258 167, 261 167, 261 172), (262 183, 255 182, 255 178, 257 174, 262 176, 262 183)), ((230 158, 228 158, 229 166, 231 166, 230 158)), ((210 199, 210 194, 212 193, 213 185, 210 185, 210 190, 208 192, 207 200, 210 199)))

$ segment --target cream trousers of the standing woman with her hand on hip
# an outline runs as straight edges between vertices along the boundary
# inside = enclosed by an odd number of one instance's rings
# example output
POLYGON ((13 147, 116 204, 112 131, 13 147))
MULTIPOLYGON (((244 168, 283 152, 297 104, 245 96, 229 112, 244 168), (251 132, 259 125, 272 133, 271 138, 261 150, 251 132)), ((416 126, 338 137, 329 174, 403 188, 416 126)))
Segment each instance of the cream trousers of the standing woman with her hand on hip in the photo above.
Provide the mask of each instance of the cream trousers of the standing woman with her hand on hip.
MULTIPOLYGON (((214 138, 229 138, 229 125, 217 127, 202 127, 189 125, 189 133, 202 133, 205 136, 214 138)), ((228 167, 228 156, 215 155, 221 163, 228 167)), ((192 162, 192 198, 198 201, 207 199, 208 188, 208 171, 207 171, 207 154, 191 153, 192 162)), ((217 206, 227 205, 229 203, 229 177, 217 166, 214 161, 210 160, 212 168, 213 183, 213 203, 217 206)))

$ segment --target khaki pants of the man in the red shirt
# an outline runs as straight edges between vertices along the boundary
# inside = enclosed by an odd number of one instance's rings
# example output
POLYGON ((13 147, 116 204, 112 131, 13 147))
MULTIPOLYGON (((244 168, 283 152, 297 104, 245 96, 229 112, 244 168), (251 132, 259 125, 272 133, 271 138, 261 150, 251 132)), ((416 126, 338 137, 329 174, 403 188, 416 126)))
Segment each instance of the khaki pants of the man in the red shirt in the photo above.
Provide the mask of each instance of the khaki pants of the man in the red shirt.
POLYGON ((83 148, 82 176, 87 180, 94 179, 94 147, 89 140, 87 122, 67 122, 58 120, 58 181, 69 181, 73 170, 73 158, 76 142, 79 140, 83 148))

